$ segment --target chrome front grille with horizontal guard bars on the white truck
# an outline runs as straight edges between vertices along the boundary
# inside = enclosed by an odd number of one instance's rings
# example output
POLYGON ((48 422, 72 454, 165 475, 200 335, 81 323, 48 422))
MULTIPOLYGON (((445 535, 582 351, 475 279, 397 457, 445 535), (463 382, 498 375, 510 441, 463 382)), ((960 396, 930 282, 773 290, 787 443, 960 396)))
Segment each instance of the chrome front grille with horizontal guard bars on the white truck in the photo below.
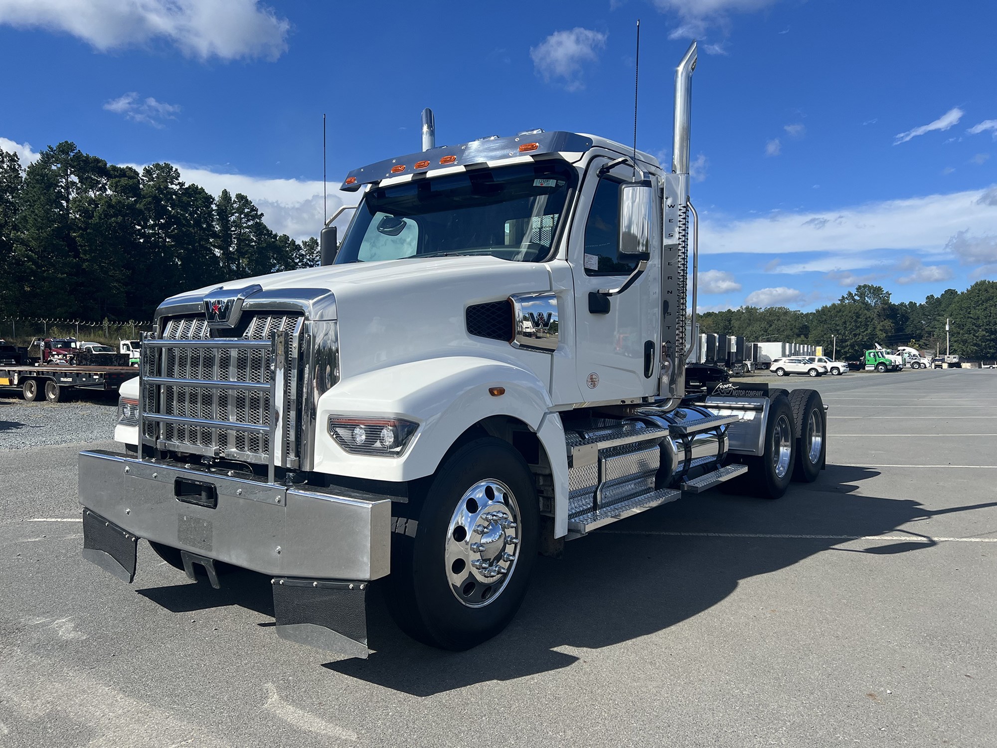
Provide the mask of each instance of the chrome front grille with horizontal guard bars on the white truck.
POLYGON ((159 449, 257 464, 270 462, 273 438, 276 465, 297 467, 303 317, 242 317, 228 338, 210 337, 202 315, 165 320, 143 354, 143 433, 159 449))

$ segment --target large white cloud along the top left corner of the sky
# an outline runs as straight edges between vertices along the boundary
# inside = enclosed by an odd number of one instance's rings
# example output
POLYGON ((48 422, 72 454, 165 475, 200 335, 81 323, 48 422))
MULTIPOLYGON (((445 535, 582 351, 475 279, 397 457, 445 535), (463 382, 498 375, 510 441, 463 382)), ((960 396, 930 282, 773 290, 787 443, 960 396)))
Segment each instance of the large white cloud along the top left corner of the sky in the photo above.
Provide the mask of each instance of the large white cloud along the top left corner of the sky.
POLYGON ((290 29, 258 0, 0 0, 0 24, 64 32, 101 52, 166 42, 201 61, 275 60, 290 29))

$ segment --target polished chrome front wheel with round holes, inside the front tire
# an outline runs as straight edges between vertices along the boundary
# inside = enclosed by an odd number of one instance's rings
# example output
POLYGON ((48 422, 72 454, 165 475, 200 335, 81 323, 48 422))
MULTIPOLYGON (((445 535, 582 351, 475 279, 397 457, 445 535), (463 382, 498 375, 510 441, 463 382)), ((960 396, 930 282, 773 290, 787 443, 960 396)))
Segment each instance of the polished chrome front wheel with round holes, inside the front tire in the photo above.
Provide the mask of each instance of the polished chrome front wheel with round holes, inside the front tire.
POLYGON ((519 551, 519 506, 508 487, 488 479, 458 502, 444 560, 454 595, 469 607, 489 604, 512 575, 519 551))

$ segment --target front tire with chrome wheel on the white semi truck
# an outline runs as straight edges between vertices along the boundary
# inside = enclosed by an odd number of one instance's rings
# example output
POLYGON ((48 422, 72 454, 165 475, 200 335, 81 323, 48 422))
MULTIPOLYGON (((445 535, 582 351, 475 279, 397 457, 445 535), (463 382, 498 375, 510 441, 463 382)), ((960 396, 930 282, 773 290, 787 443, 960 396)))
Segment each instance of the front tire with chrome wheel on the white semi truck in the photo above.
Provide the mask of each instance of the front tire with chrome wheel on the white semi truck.
POLYGON ((522 456, 495 438, 457 450, 396 512, 414 535, 392 536, 388 605, 402 630, 463 650, 501 631, 536 559, 539 505, 522 456))

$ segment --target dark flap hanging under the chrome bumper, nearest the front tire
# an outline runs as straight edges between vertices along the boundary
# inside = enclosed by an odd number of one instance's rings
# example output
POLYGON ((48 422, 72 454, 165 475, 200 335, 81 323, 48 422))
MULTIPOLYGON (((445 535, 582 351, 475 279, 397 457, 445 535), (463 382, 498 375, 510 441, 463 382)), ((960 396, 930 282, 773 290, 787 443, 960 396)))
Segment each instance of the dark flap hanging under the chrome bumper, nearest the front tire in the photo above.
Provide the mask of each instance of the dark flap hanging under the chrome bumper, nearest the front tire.
POLYGON ((277 635, 318 649, 367 658, 366 581, 274 577, 277 635))

